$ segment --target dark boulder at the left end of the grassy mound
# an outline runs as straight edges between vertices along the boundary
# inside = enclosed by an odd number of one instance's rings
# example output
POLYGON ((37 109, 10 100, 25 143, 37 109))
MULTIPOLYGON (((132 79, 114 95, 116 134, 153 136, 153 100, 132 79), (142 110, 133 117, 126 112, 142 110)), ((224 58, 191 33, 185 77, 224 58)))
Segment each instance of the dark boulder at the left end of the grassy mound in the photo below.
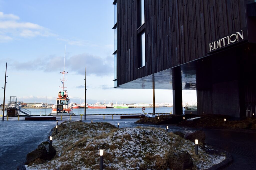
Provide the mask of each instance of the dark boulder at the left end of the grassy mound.
POLYGON ((26 164, 29 164, 37 158, 42 160, 51 160, 55 155, 56 150, 54 147, 49 142, 42 142, 38 145, 37 149, 27 154, 26 164))

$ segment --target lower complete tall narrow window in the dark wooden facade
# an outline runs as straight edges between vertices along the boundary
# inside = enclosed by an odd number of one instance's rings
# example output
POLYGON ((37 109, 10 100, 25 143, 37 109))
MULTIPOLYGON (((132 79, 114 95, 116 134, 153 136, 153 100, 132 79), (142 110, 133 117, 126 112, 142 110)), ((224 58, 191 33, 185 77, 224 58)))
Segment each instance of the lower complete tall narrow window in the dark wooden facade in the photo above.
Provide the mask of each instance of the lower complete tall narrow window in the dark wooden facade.
POLYGON ((138 36, 138 68, 146 65, 145 32, 138 36))

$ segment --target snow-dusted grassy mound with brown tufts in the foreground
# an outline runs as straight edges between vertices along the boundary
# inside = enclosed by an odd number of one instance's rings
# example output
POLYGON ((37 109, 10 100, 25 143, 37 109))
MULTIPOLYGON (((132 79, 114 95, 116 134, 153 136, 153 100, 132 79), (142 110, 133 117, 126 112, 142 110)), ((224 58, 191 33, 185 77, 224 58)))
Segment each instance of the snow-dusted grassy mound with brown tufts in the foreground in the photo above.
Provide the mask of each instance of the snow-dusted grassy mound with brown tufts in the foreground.
MULTIPOLYGON (((99 149, 104 149, 106 170, 170 169, 168 156, 186 150, 194 162, 191 169, 206 169, 225 159, 224 154, 210 155, 199 145, 160 128, 116 128, 109 123, 70 122, 58 135, 53 130, 57 155, 51 161, 32 164, 27 169, 99 169, 99 149)), ((202 144, 201 144, 202 145, 202 144)))

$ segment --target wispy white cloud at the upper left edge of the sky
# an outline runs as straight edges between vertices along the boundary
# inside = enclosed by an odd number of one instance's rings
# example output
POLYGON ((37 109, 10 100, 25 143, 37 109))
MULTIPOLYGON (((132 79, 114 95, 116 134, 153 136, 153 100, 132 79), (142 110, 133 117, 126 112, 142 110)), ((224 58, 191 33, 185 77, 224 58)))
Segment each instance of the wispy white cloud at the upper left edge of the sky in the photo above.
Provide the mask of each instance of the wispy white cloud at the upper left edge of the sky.
POLYGON ((19 37, 56 36, 41 25, 17 20, 19 17, 16 15, 0 12, 0 43, 19 37))

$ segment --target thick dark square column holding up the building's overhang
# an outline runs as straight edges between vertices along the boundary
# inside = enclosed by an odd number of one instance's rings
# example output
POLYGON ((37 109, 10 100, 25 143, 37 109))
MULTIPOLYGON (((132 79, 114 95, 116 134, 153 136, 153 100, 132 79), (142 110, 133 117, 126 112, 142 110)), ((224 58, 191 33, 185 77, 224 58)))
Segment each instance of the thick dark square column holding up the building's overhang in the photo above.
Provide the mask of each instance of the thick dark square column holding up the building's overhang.
POLYGON ((182 108, 182 83, 181 70, 174 68, 173 70, 173 114, 183 114, 182 108))

